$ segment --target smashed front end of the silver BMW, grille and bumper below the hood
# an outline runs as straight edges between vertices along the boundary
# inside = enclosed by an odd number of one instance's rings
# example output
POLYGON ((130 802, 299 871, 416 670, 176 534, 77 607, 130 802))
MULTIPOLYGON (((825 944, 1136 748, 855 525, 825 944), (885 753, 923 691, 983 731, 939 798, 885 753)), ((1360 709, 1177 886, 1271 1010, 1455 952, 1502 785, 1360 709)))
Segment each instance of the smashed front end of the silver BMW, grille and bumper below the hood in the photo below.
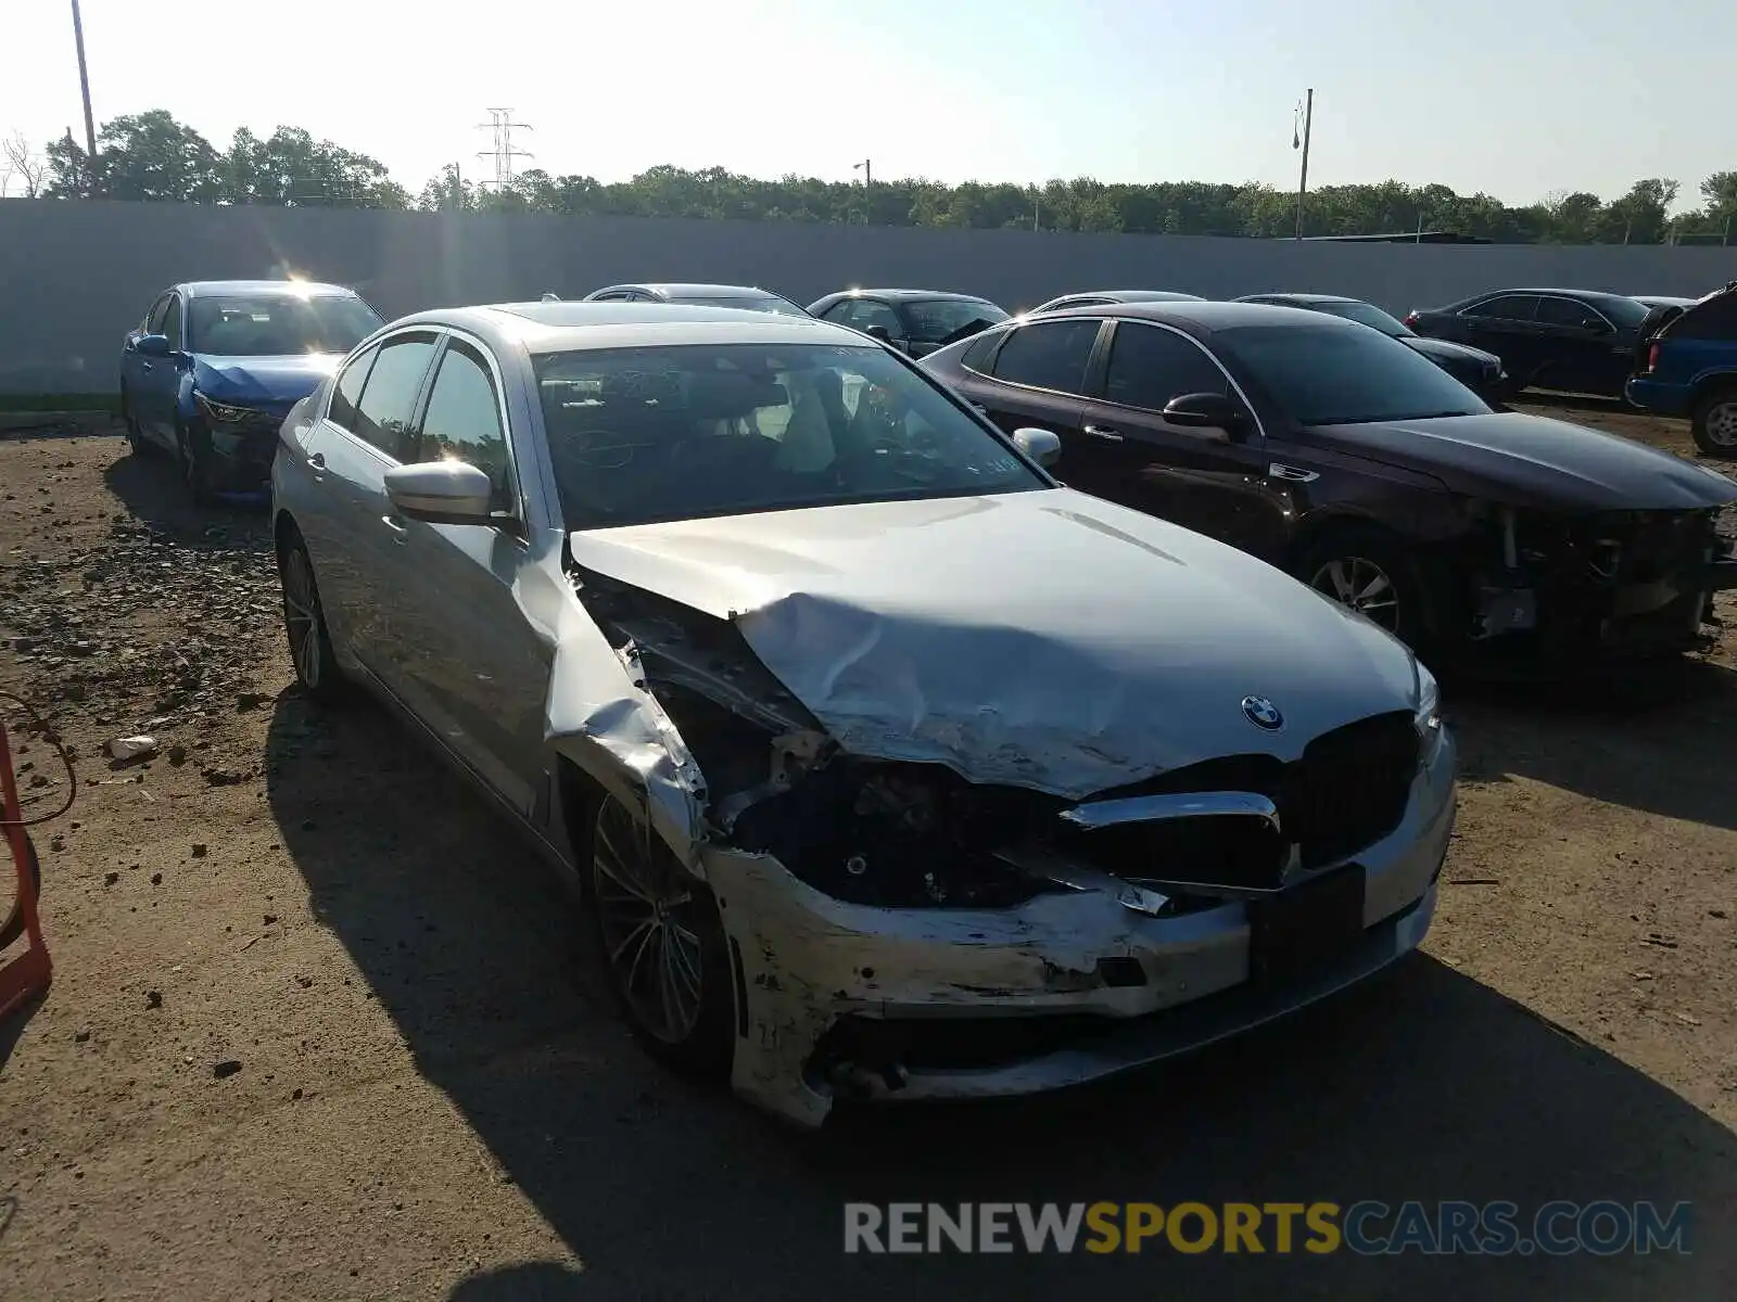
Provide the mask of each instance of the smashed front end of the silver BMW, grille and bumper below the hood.
POLYGON ((1433 701, 1289 762, 1228 755, 1077 800, 846 752, 735 621, 594 575, 575 589, 703 774, 672 849, 728 937, 733 1085, 792 1121, 1150 1062, 1428 929, 1454 821, 1433 701))

